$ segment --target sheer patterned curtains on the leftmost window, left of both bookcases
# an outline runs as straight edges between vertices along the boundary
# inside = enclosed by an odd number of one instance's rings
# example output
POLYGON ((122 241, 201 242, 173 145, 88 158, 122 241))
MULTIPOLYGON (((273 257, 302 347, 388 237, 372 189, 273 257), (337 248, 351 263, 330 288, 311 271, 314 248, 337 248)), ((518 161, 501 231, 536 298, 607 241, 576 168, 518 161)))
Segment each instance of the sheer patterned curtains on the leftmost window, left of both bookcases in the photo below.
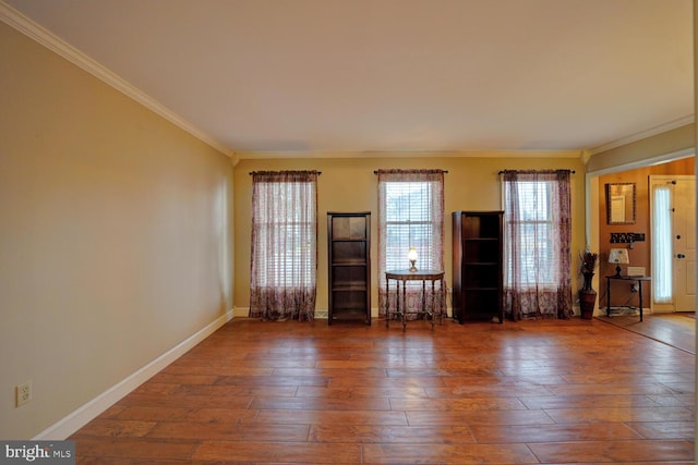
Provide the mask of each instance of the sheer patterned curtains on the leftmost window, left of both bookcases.
POLYGON ((315 317, 317 174, 252 173, 250 317, 315 317))

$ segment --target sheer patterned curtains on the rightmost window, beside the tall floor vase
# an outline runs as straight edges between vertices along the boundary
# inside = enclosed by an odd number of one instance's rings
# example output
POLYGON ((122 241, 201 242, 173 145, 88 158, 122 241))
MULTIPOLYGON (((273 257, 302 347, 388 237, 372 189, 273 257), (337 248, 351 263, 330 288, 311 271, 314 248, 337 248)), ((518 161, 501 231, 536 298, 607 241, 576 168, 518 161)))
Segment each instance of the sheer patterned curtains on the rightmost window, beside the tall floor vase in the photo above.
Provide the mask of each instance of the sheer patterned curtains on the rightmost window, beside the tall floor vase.
POLYGON ((571 315, 569 175, 503 173, 504 305, 514 320, 571 315))

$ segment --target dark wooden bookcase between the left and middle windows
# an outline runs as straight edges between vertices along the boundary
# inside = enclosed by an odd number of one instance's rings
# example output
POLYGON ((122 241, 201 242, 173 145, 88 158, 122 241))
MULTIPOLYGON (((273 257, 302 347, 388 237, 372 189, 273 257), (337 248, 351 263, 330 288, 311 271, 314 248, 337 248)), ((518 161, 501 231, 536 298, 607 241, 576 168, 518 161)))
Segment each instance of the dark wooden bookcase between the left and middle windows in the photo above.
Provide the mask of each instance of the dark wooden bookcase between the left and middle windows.
POLYGON ((327 212, 327 323, 371 325, 371 212, 327 212))

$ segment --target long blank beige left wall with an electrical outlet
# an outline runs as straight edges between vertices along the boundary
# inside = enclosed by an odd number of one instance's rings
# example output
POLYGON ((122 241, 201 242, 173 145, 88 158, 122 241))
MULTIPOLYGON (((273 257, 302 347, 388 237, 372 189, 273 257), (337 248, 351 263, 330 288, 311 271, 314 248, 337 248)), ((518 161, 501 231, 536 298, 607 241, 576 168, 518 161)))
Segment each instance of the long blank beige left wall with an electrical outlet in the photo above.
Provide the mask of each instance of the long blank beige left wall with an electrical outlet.
POLYGON ((232 167, 2 23, 0 96, 0 438, 27 439, 231 308, 232 167))

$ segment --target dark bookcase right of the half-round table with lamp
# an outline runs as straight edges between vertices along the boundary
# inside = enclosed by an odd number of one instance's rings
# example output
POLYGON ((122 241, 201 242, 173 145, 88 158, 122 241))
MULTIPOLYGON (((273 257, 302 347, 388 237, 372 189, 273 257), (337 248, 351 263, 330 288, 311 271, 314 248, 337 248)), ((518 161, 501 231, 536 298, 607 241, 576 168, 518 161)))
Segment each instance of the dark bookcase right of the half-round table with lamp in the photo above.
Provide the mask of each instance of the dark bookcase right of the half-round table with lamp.
POLYGON ((454 318, 504 322, 502 211, 453 213, 454 318))

